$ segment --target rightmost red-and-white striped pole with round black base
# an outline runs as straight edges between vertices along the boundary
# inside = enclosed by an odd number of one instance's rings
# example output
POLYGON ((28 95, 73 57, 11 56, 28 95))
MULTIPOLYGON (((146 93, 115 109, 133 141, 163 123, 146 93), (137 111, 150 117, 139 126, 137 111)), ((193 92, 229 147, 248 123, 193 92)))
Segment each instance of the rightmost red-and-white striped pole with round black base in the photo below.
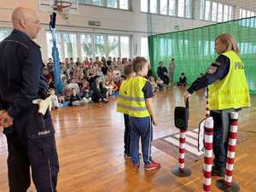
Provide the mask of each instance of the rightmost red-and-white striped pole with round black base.
POLYGON ((237 112, 230 113, 230 135, 229 135, 228 154, 227 154, 227 160, 226 160, 225 179, 219 179, 216 183, 218 189, 224 192, 240 191, 240 187, 238 183, 232 181, 235 154, 236 154, 237 122, 238 122, 238 113, 237 112))

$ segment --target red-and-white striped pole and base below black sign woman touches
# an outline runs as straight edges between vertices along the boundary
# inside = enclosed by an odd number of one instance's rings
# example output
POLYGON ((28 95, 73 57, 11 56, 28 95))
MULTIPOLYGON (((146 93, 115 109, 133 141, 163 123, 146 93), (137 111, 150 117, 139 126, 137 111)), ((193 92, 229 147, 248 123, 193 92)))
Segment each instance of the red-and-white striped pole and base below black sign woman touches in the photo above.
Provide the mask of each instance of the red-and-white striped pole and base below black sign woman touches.
POLYGON ((186 131, 180 130, 179 135, 179 150, 178 150, 178 166, 172 168, 172 173, 177 177, 189 177, 191 171, 185 167, 185 144, 186 144, 186 131))

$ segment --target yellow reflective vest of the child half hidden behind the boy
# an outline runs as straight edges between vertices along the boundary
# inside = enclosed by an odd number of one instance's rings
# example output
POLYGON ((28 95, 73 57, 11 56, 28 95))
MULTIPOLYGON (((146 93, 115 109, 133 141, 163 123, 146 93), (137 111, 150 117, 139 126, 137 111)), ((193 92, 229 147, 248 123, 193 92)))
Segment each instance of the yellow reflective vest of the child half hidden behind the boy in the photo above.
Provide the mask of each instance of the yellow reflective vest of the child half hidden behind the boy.
POLYGON ((119 88, 119 96, 117 97, 116 111, 119 113, 129 114, 129 102, 127 101, 127 84, 130 79, 126 79, 122 82, 119 88))

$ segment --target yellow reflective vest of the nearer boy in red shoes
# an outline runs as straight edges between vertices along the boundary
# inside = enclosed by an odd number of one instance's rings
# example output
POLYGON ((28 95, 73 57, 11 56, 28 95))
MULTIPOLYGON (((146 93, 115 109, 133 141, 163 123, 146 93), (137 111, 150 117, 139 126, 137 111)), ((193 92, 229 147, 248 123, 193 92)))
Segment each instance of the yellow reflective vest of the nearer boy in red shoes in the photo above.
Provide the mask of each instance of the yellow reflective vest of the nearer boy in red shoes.
POLYGON ((131 117, 143 118, 150 116, 143 93, 143 87, 147 81, 142 76, 136 76, 129 80, 126 100, 129 102, 128 110, 131 117))

